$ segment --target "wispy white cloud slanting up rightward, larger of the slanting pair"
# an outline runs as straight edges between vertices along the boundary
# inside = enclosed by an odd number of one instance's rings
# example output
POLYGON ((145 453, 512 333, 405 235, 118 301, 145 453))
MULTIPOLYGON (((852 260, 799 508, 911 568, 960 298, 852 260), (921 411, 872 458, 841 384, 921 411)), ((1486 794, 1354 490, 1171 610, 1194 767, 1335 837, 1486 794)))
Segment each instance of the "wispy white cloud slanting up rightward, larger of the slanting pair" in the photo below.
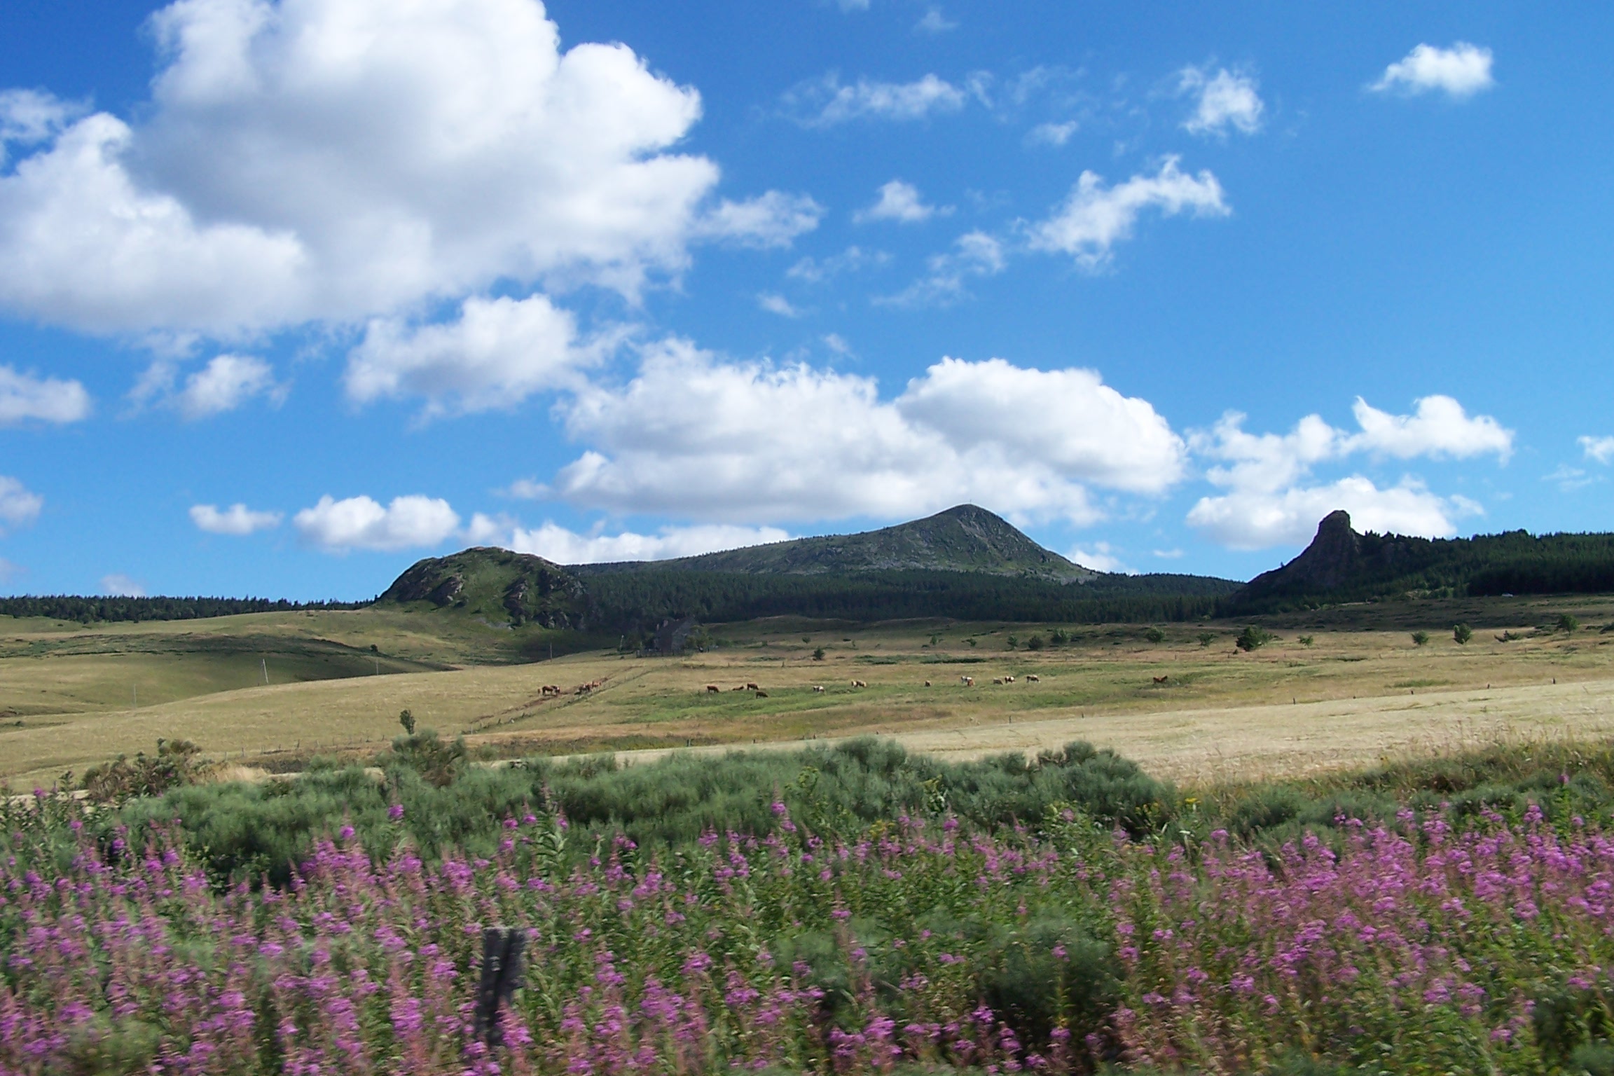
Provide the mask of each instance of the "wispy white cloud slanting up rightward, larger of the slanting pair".
POLYGON ((1133 224, 1144 210, 1162 216, 1231 213, 1215 176, 1209 171, 1190 176, 1177 168, 1177 156, 1167 156, 1156 174, 1133 176, 1114 187, 1106 187, 1096 173, 1081 173, 1054 215, 1030 227, 1031 248, 1068 253, 1083 268, 1096 269, 1109 261, 1117 242, 1131 237, 1133 224))

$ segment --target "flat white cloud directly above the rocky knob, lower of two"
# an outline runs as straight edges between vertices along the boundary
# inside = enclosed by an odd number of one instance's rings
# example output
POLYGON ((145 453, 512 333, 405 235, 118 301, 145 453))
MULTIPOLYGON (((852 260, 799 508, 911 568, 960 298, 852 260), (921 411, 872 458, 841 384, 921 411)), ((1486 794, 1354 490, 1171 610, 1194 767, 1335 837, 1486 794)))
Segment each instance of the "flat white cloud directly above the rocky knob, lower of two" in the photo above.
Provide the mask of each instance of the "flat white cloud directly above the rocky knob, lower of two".
POLYGON ((1230 548, 1304 545, 1315 534, 1317 521, 1338 508, 1351 513, 1351 526, 1357 531, 1424 537, 1451 537, 1457 532, 1453 519, 1478 510, 1466 498, 1436 497, 1412 479, 1378 489, 1370 479, 1353 474, 1327 486, 1202 497, 1190 510, 1188 523, 1230 548))

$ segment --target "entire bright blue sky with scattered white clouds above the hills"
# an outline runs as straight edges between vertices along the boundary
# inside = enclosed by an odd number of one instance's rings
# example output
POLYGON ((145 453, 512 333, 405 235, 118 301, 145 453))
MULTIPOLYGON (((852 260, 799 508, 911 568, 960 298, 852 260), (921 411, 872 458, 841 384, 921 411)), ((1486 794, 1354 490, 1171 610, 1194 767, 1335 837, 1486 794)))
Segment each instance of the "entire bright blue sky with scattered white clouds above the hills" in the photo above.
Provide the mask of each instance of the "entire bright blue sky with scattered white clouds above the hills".
POLYGON ((1611 529, 1614 13, 0 10, 0 592, 1611 529))

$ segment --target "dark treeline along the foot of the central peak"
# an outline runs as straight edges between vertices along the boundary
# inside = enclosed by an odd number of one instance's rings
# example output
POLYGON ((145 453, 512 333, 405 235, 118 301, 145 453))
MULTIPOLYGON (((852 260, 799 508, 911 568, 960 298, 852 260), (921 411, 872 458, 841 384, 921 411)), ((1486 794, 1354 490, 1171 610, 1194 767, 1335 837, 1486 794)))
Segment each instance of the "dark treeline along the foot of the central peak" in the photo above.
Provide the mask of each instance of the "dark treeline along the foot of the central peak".
POLYGON ((881 621, 928 616, 1065 624, 1186 621, 1241 584, 1204 576, 1099 576, 1086 584, 962 571, 757 574, 655 569, 586 574, 589 618, 618 631, 663 619, 759 616, 881 621))

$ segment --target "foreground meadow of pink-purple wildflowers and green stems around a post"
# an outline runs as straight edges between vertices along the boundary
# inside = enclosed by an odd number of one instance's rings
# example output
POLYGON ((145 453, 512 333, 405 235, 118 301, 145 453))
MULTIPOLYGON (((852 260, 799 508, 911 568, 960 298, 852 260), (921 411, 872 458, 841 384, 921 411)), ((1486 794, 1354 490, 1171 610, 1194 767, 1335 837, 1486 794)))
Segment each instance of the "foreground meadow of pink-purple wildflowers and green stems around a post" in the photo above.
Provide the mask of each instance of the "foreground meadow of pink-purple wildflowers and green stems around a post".
POLYGON ((0 1071, 1598 1074, 1614 834, 1569 781, 1254 836, 1193 797, 1130 832, 775 789, 644 845, 534 797, 431 853, 394 797, 281 882, 165 800, 40 794, 3 815, 0 1071), (478 1036, 494 924, 526 963, 478 1036))

